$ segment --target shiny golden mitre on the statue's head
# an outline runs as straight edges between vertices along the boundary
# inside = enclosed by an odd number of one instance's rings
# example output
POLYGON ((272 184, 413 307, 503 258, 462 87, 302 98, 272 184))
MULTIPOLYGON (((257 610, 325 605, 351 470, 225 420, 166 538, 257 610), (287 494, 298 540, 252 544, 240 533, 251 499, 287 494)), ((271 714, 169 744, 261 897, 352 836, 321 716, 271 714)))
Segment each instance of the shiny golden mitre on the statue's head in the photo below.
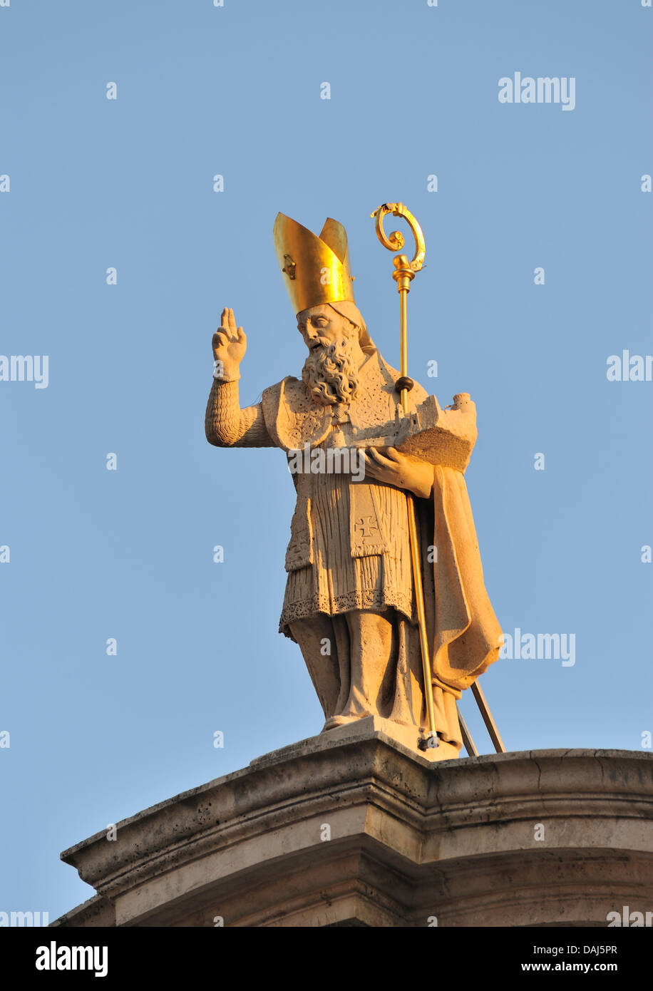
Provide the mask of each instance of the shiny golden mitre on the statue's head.
POLYGON ((354 303, 347 231, 327 217, 319 238, 296 220, 277 213, 274 251, 295 314, 320 303, 354 303))

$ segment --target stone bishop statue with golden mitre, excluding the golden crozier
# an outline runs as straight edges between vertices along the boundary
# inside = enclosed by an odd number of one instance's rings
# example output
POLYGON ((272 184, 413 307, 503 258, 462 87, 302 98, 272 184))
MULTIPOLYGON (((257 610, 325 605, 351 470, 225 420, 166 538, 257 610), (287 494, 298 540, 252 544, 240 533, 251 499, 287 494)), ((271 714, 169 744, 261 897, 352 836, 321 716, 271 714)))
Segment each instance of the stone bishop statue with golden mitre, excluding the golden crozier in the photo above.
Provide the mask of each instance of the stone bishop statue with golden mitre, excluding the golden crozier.
POLYGON ((406 416, 399 373, 356 306, 341 224, 328 219, 316 237, 279 213, 274 243, 308 349, 301 378, 286 377, 242 409, 246 337, 234 311, 223 310, 206 438, 286 454, 296 505, 279 631, 301 649, 324 711, 322 732, 376 716, 417 748, 426 716, 406 512, 412 494, 438 759, 458 756, 456 701, 496 660, 500 636, 463 475, 476 438, 474 403, 461 393, 441 410, 415 383, 406 416), (428 409, 438 444, 422 449, 418 434, 399 450, 428 409), (463 422, 469 429, 458 428, 463 422))

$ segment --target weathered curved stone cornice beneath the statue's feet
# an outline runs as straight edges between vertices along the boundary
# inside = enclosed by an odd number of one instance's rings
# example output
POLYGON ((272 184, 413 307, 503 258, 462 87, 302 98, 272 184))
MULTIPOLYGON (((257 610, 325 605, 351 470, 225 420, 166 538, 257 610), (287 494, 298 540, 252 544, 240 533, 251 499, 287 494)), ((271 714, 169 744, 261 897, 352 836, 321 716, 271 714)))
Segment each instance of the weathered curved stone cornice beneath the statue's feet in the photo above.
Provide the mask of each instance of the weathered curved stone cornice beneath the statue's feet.
POLYGON ((302 740, 61 854, 63 927, 606 927, 653 908, 653 754, 433 763, 374 720, 302 740))

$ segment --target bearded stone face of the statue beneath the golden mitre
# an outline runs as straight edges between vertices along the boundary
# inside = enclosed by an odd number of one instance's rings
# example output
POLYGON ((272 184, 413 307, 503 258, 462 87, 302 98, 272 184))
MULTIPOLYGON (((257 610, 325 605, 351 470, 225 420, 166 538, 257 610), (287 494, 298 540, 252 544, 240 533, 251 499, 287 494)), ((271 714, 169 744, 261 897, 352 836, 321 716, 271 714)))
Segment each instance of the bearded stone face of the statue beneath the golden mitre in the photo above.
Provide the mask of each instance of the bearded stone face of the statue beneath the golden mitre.
POLYGON ((313 400, 322 405, 351 402, 363 358, 358 327, 327 305, 298 317, 309 350, 301 378, 313 400))

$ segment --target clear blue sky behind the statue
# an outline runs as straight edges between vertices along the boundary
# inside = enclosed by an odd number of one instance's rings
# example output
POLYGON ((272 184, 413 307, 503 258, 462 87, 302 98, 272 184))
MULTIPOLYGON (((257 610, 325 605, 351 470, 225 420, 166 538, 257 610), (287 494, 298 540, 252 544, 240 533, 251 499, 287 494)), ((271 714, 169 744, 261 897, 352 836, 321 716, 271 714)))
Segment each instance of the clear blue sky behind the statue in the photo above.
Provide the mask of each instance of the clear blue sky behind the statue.
MULTIPOLYGON (((278 210, 345 224, 394 365, 370 214, 400 200, 423 226, 409 371, 442 405, 477 403, 491 602, 508 632, 576 636, 573 666, 504 659, 484 678, 507 749, 638 749, 653 730, 653 383, 606 379, 608 356, 653 353, 653 10, 224 4, 0 8, 0 351, 50 358, 47 388, 0 382, 0 911, 54 919, 92 895, 60 850, 321 728, 276 632, 284 457, 203 429, 223 306, 248 334, 243 404, 303 364, 278 210), (516 71, 575 77, 575 109, 499 103, 516 71)), ((463 712, 489 752, 470 694, 463 712)))

